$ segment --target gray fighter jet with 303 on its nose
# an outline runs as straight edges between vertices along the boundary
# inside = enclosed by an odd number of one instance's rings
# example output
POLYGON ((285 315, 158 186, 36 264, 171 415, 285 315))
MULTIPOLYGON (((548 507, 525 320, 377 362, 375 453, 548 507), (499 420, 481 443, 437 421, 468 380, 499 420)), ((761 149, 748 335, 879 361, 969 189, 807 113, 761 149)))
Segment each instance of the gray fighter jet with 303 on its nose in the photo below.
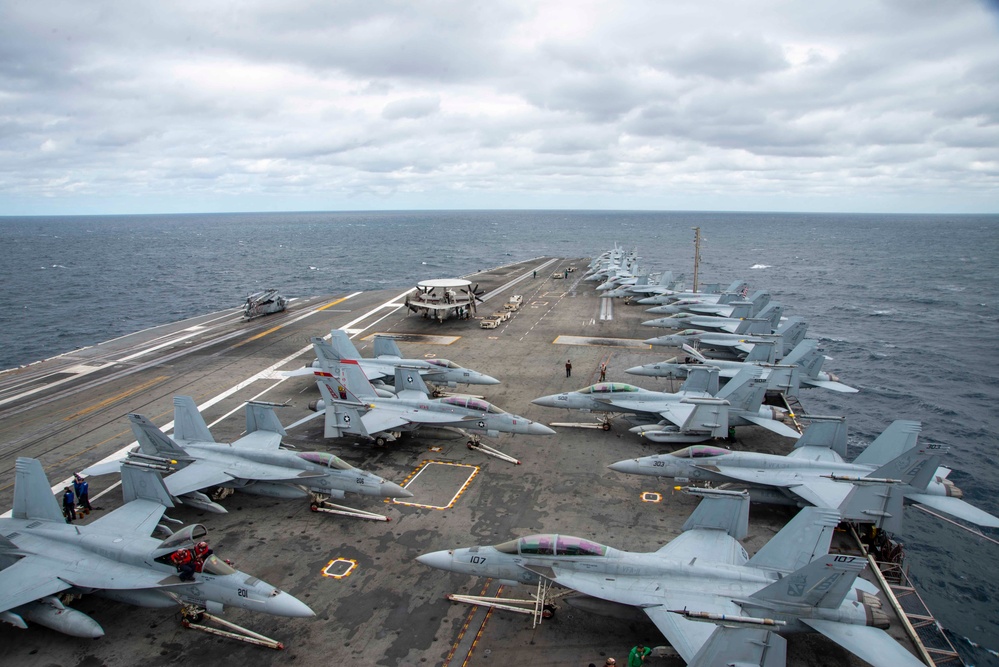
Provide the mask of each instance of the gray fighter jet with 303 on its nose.
MULTIPOLYGON (((618 461, 609 468, 632 475, 739 484, 749 488, 754 501, 797 506, 835 508, 854 484, 892 484, 909 503, 979 526, 999 527, 999 518, 961 500, 961 490, 947 479, 950 470, 928 458, 936 459, 945 449, 917 444, 919 422, 892 422, 853 463, 843 460, 845 423, 836 427, 840 429, 836 433, 830 434, 830 428, 823 422, 810 425, 787 456, 694 445, 670 454, 618 461)), ((897 525, 886 527, 898 529, 897 525)))

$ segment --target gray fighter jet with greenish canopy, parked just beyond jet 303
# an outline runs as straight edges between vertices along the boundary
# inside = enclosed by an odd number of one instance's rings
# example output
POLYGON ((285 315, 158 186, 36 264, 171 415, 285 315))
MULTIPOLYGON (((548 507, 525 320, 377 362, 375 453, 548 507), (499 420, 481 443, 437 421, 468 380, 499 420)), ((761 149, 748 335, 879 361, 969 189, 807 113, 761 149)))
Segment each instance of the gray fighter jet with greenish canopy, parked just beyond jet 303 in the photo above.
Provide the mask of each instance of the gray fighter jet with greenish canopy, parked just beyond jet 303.
POLYGON ((784 410, 762 404, 767 381, 760 375, 760 369, 746 369, 719 390, 717 368, 693 368, 676 393, 651 391, 624 382, 600 382, 578 391, 542 396, 531 402, 582 412, 635 414, 646 423, 631 430, 654 442, 702 442, 723 437, 727 426, 747 424, 797 438, 800 434, 783 422, 787 417, 784 410), (690 417, 699 406, 698 401, 712 398, 717 399, 716 405, 718 401, 724 401, 727 406, 724 412, 728 423, 724 430, 717 419, 700 424, 701 428, 692 428, 690 417))

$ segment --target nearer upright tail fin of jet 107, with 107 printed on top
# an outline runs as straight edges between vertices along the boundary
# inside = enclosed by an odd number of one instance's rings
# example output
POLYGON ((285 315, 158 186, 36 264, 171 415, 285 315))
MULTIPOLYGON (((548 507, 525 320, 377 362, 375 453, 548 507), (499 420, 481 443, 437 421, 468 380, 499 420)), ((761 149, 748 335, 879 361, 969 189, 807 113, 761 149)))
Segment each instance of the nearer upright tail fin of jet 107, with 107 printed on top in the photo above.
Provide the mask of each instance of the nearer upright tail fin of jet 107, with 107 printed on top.
POLYGON ((750 599, 836 609, 866 565, 867 559, 861 556, 827 554, 753 593, 750 599))

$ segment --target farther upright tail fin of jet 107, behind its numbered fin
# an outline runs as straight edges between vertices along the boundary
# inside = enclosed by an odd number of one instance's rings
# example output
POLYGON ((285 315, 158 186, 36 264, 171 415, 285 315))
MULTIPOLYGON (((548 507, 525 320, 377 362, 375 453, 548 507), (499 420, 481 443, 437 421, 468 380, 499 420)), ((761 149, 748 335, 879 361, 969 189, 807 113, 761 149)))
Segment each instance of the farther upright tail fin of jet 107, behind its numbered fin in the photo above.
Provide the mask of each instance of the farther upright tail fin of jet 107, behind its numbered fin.
POLYGON ((793 572, 829 553, 839 520, 836 510, 805 507, 749 559, 749 565, 793 572))

